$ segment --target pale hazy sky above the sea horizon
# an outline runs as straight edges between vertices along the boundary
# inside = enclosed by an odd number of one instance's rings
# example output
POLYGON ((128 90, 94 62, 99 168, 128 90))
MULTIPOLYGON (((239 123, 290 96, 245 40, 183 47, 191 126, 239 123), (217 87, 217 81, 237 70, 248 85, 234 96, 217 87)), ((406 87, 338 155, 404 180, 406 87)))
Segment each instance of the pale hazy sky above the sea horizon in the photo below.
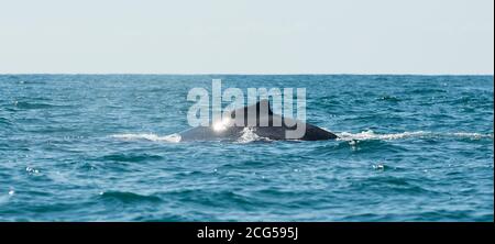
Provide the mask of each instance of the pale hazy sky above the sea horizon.
POLYGON ((0 0, 2 74, 493 70, 493 0, 0 0))

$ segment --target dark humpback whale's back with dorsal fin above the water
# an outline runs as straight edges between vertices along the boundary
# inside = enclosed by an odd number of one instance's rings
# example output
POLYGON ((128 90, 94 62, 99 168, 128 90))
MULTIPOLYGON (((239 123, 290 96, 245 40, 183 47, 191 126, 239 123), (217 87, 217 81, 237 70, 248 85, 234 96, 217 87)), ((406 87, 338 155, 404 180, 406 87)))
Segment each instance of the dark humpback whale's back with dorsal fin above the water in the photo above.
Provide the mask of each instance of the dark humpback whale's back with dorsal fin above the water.
POLYGON ((338 136, 316 125, 273 113, 270 101, 264 99, 256 104, 230 111, 230 117, 216 121, 209 126, 197 126, 180 132, 180 141, 231 141, 238 140, 251 130, 257 136, 268 140, 320 141, 333 140, 338 136), (250 112, 251 111, 251 112, 250 112), (288 124, 288 125, 287 125, 288 124), (305 131, 294 137, 290 132, 297 126, 305 131))

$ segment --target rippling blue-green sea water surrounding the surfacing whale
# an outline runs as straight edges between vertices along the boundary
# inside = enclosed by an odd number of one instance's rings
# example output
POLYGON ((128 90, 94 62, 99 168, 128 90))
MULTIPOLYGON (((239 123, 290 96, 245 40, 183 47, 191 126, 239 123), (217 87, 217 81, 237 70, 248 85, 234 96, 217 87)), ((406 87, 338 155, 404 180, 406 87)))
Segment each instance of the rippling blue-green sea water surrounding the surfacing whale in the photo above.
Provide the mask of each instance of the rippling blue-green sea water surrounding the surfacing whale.
POLYGON ((1 221, 493 221, 493 76, 0 76, 1 221), (173 142, 193 87, 305 87, 323 142, 173 142))

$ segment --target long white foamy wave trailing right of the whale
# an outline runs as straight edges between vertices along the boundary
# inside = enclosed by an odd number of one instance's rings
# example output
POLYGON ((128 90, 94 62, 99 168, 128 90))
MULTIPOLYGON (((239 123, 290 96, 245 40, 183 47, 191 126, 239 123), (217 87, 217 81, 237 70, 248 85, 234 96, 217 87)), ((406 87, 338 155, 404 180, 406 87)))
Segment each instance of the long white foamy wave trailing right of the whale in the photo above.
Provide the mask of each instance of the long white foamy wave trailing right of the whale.
POLYGON ((425 137, 458 137, 458 138, 493 138, 493 134, 469 133, 469 132, 455 132, 455 133, 436 133, 426 131, 416 132, 403 132, 391 134, 376 134, 372 130, 363 131, 361 133, 342 132, 337 134, 340 141, 365 141, 365 140, 402 140, 402 138, 425 138, 425 137))

